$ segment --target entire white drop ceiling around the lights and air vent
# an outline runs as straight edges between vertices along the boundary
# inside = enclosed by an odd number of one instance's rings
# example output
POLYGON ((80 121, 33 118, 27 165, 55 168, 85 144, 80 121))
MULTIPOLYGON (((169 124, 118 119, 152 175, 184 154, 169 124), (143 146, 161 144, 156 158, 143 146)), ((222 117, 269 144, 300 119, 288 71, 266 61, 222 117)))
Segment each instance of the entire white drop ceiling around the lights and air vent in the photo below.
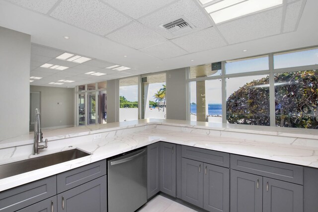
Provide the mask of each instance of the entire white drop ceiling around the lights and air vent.
POLYGON ((30 76, 42 78, 30 84, 57 87, 318 45, 318 0, 282 0, 218 24, 205 5, 199 0, 0 0, 0 26, 31 35, 30 76), (180 18, 188 30, 171 33, 163 27, 180 18), (65 52, 91 60, 56 59, 65 52), (69 68, 40 67, 46 63, 69 68), (105 69, 114 65, 131 69, 105 69), (105 75, 85 74, 90 71, 105 75), (49 84, 59 80, 74 82, 49 84))

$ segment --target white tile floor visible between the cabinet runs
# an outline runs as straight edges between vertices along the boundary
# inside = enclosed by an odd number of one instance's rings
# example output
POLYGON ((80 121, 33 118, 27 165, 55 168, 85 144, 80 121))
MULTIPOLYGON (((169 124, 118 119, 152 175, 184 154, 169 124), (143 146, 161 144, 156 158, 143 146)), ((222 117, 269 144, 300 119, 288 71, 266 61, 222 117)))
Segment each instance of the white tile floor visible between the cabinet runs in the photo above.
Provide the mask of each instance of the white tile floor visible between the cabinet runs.
POLYGON ((157 195, 137 212, 196 212, 170 199, 157 195))

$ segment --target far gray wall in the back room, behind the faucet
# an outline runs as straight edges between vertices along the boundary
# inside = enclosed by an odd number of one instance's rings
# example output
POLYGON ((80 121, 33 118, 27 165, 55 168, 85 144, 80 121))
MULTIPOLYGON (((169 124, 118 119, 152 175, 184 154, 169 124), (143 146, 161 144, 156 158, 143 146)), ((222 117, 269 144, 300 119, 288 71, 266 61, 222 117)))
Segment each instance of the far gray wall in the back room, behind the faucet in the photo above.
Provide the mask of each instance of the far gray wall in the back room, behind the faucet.
POLYGON ((39 91, 41 93, 42 130, 74 127, 74 88, 31 85, 30 91, 39 91))

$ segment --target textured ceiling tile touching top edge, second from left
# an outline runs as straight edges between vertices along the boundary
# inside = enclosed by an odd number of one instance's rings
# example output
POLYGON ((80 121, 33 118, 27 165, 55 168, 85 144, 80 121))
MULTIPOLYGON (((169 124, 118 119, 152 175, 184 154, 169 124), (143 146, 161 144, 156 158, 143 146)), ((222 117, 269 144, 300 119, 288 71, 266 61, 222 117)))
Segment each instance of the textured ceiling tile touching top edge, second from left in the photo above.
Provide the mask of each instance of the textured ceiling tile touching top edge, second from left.
POLYGON ((62 0, 50 15, 102 36, 131 21, 98 0, 62 0))

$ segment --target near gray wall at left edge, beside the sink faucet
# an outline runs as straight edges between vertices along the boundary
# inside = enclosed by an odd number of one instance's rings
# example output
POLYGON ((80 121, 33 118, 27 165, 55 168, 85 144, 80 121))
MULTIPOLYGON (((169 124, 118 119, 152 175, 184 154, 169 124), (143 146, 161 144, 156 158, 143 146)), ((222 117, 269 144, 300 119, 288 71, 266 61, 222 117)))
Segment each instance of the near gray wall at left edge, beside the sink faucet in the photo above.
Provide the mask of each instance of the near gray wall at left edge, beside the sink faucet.
POLYGON ((30 35, 0 27, 0 141, 29 134, 30 35))

